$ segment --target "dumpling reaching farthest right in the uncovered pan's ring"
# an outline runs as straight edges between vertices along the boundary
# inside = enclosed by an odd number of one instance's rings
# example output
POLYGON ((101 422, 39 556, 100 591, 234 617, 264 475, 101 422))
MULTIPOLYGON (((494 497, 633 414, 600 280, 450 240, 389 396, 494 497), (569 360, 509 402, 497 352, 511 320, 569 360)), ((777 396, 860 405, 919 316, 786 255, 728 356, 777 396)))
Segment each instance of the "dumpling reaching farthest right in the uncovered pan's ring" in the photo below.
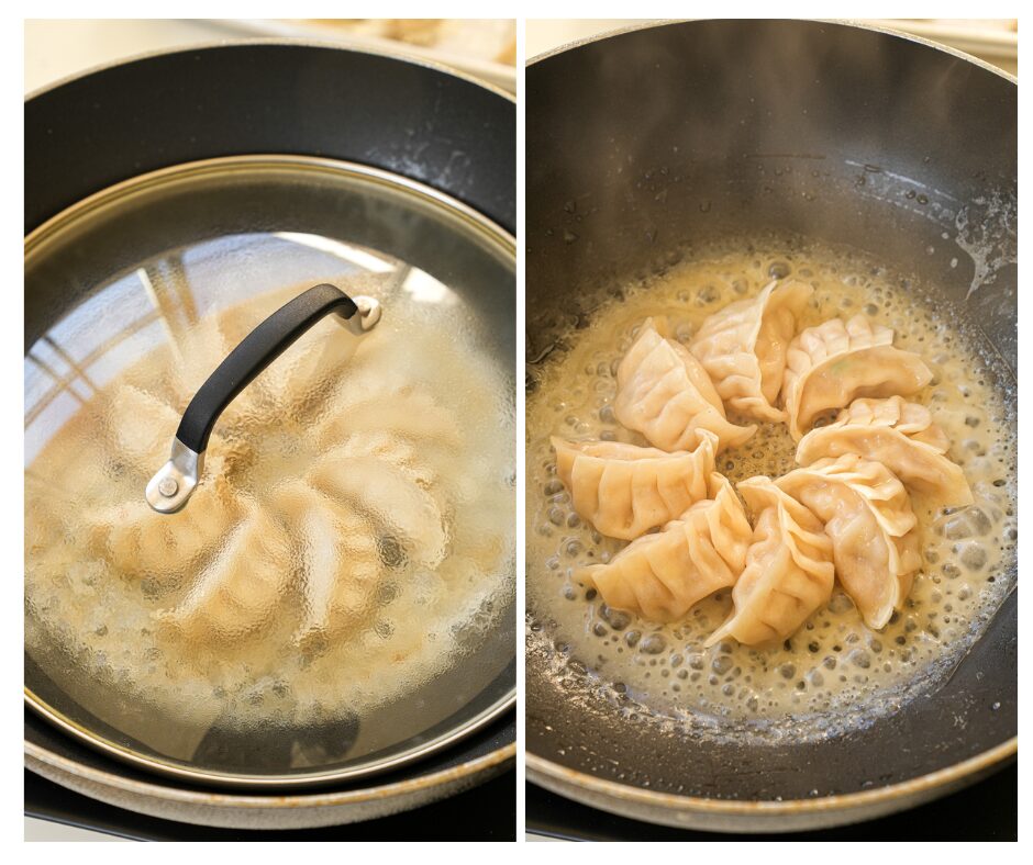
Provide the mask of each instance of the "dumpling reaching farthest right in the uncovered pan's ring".
POLYGON ((812 429, 797 447, 797 462, 856 453, 881 462, 904 485, 954 507, 973 503, 960 467, 946 456, 951 442, 929 409, 900 396, 854 400, 835 423, 812 429))

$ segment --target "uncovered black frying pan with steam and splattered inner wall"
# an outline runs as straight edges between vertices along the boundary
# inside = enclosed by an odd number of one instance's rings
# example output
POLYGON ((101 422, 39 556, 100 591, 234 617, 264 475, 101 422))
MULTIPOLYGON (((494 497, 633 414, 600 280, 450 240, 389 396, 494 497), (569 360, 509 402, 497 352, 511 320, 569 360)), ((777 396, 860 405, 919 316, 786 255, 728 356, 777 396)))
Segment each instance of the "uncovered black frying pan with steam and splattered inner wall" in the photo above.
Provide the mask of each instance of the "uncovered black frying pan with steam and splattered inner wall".
MULTIPOLYGON (((974 261, 943 239, 964 213, 998 263, 1015 258, 1013 79, 870 29, 700 21, 540 58, 526 99, 529 361, 553 348, 557 321, 590 314, 597 287, 693 238, 778 231, 917 273, 1017 369, 1014 263, 966 300, 974 261)), ((633 734, 606 709, 576 710, 533 655, 526 710, 529 778, 589 805, 726 831, 856 821, 1013 757, 1017 594, 937 690, 818 744, 633 734)))

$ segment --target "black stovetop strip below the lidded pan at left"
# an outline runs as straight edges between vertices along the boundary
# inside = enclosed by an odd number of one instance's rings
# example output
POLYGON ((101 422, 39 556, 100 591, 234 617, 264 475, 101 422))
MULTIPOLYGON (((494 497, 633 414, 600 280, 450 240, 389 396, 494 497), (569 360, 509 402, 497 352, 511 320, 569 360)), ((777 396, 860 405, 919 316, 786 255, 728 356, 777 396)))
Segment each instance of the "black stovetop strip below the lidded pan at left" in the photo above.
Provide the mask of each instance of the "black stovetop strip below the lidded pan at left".
POLYGON ((25 815, 136 841, 514 841, 516 772, 412 811, 329 829, 262 832, 190 825, 104 805, 25 769, 25 815))

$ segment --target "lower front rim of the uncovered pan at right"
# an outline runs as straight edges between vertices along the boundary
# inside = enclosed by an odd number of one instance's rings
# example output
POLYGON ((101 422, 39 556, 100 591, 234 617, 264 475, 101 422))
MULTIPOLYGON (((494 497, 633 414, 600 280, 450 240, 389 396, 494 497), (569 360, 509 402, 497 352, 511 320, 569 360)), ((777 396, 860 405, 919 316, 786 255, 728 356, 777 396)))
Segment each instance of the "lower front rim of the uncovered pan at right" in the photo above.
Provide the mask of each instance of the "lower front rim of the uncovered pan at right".
MULTIPOLYGON (((682 796, 678 794, 658 793, 633 787, 620 782, 598 778, 578 769, 567 768, 545 757, 537 756, 530 751, 525 754, 527 779, 540 783, 538 778, 575 784, 588 793, 606 796, 611 799, 632 801, 653 808, 663 808, 676 812, 698 812, 722 816, 747 817, 778 817, 812 812, 843 812, 886 801, 902 799, 917 794, 935 790, 948 784, 960 782, 970 775, 989 769, 1019 751, 1019 737, 995 745, 960 763, 946 766, 935 772, 919 775, 914 778, 890 784, 871 790, 858 793, 844 793, 834 796, 820 796, 812 799, 788 799, 782 801, 758 799, 709 799, 701 796, 682 796), (536 777, 537 776, 537 777, 536 777)), ((547 785, 542 785, 547 786, 547 785)))

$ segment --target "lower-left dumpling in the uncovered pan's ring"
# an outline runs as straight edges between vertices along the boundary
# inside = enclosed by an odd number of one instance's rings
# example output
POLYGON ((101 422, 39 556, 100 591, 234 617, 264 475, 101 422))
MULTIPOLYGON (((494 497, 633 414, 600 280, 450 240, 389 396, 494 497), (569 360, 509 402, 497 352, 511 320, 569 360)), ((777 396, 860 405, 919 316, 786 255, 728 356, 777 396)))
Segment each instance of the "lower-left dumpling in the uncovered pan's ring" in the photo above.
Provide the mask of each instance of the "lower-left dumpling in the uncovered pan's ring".
POLYGON ((711 493, 663 530, 632 541, 581 575, 611 607, 653 621, 684 618, 698 602, 735 583, 753 533, 723 475, 711 475, 711 493))

